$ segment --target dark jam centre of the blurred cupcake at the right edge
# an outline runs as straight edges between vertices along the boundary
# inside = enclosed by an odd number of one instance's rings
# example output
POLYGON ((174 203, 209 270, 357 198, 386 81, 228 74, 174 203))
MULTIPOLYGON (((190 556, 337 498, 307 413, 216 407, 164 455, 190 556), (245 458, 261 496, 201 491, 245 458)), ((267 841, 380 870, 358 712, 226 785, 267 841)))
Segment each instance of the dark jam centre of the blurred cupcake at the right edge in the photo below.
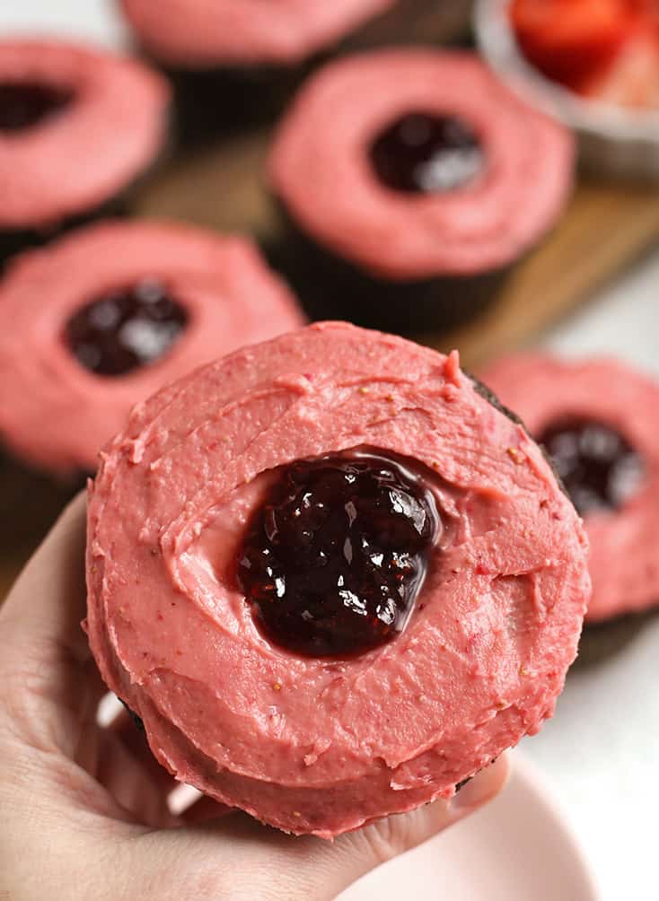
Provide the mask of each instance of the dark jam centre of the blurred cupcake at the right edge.
POLYGON ((640 454, 604 423, 566 419, 546 428, 538 441, 545 445, 582 516, 618 510, 636 494, 643 480, 640 454))

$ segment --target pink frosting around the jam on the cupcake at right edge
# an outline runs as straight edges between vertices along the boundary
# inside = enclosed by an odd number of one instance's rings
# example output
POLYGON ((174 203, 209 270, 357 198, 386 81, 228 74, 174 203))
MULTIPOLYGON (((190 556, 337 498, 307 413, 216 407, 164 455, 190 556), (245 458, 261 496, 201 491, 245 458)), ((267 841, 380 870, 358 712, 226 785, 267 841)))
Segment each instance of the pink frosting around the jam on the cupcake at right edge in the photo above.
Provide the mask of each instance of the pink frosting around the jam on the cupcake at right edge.
POLYGON ((600 420, 645 460, 645 482, 616 512, 585 518, 590 538, 590 621, 659 603, 659 385, 615 359, 568 362, 523 354, 490 366, 482 378, 513 406, 531 433, 565 416, 600 420))

